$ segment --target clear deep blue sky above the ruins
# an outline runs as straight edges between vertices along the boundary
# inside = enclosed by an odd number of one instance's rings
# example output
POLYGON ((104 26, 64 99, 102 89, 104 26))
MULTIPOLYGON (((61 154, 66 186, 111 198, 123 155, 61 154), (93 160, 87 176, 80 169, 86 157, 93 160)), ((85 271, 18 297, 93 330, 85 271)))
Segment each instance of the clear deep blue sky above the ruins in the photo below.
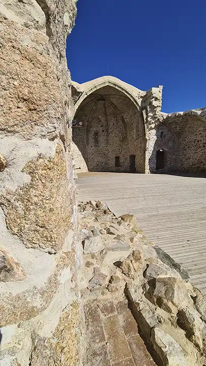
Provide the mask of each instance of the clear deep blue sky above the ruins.
POLYGON ((79 0, 67 39, 72 79, 163 85, 163 112, 206 106, 206 0, 79 0))

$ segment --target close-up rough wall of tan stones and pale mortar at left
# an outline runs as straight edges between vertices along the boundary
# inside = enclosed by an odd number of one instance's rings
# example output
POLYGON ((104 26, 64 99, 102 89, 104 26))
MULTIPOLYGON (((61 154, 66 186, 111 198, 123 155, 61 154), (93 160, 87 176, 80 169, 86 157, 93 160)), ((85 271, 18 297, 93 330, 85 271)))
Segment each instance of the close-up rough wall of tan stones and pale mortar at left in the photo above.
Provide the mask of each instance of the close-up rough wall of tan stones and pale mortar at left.
POLYGON ((71 89, 76 0, 0 1, 1 365, 77 365, 71 89), (69 82, 69 83, 68 83, 69 82))

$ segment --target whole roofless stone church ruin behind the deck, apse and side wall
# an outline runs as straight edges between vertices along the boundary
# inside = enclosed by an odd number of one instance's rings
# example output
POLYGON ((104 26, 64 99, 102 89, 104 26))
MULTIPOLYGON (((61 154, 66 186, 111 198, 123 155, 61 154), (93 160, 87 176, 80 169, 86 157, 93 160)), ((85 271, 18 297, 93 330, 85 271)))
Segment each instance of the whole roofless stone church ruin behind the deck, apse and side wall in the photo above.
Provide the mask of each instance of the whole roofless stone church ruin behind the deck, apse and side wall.
POLYGON ((72 84, 76 172, 206 171, 206 108, 161 112, 162 86, 144 92, 106 76, 72 84))

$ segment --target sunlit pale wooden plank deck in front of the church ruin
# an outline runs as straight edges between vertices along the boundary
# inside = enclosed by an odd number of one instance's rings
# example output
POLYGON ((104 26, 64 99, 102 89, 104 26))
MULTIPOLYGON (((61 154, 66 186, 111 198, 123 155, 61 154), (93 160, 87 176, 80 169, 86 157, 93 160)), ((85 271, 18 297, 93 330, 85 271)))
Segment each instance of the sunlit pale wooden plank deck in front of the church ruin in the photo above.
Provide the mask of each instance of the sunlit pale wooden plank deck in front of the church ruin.
POLYGON ((84 173, 78 198, 132 213, 147 238, 190 274, 206 294, 206 178, 160 174, 84 173))

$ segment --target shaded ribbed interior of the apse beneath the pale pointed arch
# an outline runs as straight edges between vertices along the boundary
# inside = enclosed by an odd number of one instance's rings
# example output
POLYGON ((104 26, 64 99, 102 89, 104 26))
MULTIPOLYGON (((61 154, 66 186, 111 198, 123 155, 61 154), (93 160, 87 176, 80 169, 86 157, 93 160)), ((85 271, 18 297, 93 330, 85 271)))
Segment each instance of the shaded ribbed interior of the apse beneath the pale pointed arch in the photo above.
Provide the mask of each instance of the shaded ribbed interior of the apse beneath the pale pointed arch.
POLYGON ((129 157, 135 155, 136 172, 144 173, 145 124, 135 99, 118 86, 102 83, 83 94, 74 116, 82 127, 73 128, 73 141, 88 170, 129 171, 129 157))

